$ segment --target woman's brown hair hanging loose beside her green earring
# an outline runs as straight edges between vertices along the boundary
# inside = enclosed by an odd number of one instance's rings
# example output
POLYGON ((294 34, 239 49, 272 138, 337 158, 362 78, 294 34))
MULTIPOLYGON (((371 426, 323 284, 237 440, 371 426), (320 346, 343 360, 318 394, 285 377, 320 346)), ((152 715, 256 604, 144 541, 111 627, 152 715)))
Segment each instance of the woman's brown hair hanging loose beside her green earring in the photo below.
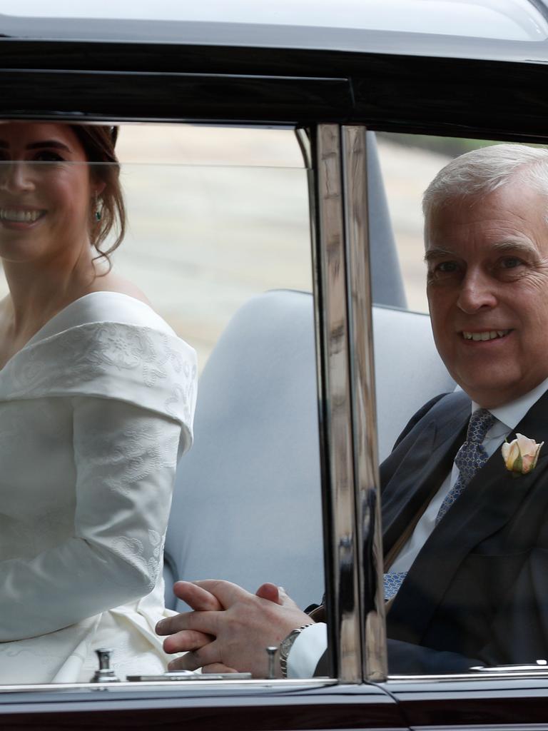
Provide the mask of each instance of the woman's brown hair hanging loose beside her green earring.
POLYGON ((71 124, 70 127, 84 148, 90 163, 91 176, 104 183, 104 189, 97 197, 97 210, 91 211, 90 238, 99 254, 97 258, 106 259, 110 269, 109 254, 118 249, 126 232, 126 207, 120 184, 120 164, 114 149, 118 127, 93 124, 71 124), (96 216, 97 211, 100 217, 96 216), (114 242, 108 249, 101 249, 101 244, 113 230, 116 235, 114 242))

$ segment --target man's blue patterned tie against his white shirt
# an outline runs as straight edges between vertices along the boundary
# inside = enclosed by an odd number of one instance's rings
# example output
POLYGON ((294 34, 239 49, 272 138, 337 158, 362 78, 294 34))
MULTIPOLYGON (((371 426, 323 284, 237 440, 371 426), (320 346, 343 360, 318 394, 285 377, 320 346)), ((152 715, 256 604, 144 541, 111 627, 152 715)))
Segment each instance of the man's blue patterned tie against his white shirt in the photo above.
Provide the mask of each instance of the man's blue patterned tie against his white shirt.
MULTIPOLYGON (((494 422, 495 417, 487 409, 477 409, 477 411, 473 412, 470 423, 468 424, 466 441, 460 447, 457 456, 454 458, 454 463, 459 468, 459 477, 457 482, 454 483, 452 490, 449 491, 441 503, 438 515, 435 518, 436 526, 454 501, 460 496, 460 493, 463 492, 468 482, 476 474, 476 471, 487 462, 487 452, 482 447, 482 442, 494 422)), ((397 594, 406 576, 406 571, 389 572, 384 575, 384 599, 386 601, 392 599, 392 596, 397 594)))

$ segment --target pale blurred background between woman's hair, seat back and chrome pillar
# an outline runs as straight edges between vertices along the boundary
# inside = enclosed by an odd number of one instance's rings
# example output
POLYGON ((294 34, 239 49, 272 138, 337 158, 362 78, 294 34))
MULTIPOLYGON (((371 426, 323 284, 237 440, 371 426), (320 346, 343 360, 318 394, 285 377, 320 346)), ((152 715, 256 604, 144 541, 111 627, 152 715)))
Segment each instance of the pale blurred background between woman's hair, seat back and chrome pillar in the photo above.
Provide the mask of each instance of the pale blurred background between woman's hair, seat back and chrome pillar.
MULTIPOLYGON (((311 292, 308 192, 292 132, 188 129, 186 150, 180 130, 173 137, 175 159, 191 164, 154 164, 150 152, 146 164, 124 164, 130 226, 115 261, 197 349, 202 369, 251 297, 311 292), (284 160, 292 167, 279 167, 284 160)), ((124 131, 124 156, 138 159, 148 128, 124 131)), ((166 147, 160 132, 156 153, 164 159, 166 147)))

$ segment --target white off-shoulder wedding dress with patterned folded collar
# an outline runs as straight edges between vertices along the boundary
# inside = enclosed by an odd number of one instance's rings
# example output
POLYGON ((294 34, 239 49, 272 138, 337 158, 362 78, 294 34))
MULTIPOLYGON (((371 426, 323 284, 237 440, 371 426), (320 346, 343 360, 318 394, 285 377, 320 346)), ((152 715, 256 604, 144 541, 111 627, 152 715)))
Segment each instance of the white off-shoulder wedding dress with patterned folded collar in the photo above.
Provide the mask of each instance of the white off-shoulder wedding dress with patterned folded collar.
POLYGON ((162 556, 196 356, 145 303, 76 300, 0 371, 0 684, 161 673, 162 556))

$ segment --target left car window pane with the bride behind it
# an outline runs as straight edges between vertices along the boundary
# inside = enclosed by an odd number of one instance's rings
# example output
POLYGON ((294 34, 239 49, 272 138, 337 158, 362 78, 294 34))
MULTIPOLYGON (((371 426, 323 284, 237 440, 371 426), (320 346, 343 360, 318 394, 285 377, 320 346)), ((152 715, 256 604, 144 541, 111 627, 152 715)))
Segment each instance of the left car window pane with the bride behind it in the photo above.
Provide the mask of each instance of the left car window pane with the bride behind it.
POLYGON ((121 679, 165 670, 174 480, 171 610, 181 578, 324 591, 294 132, 122 126, 126 235, 94 279, 118 175, 88 168, 99 129, 0 125, 2 686, 87 681, 104 646, 121 679))

